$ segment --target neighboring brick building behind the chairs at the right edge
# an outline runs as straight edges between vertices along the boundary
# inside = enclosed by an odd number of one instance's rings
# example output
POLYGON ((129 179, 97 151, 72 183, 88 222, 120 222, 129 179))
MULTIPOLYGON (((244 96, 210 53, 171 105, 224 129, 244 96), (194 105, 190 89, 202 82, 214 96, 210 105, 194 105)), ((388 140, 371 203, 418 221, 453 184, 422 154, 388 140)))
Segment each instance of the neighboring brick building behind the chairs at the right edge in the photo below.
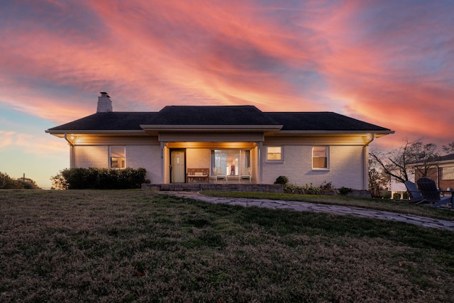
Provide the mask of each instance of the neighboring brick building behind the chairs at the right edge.
MULTIPOLYGON (((433 167, 428 169, 426 177, 436 182, 438 189, 454 189, 454 154, 442 155, 431 163, 433 167)), ((416 170, 415 182, 421 178, 421 173, 416 170)))

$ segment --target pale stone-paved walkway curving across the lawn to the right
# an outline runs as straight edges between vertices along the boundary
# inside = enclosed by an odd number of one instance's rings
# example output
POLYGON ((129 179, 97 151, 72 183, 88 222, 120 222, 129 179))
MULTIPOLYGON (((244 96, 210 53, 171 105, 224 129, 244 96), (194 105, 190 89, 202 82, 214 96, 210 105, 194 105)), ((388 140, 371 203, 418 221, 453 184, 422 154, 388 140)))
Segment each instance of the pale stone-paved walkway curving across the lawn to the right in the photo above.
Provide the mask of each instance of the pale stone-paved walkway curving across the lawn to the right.
POLYGON ((338 215, 361 216, 364 218, 382 219, 399 221, 425 227, 441 228, 447 231, 454 231, 454 221, 426 218, 424 216, 414 216, 411 214, 397 214, 390 211, 378 211, 374 209, 362 209, 353 206, 338 206, 328 204, 316 204, 297 201, 282 201, 270 199, 245 199, 245 198, 220 198, 207 197, 199 192, 162 192, 162 194, 172 194, 177 197, 196 199, 215 204, 229 204, 240 206, 258 206, 267 209, 289 209, 292 211, 311 211, 338 215))

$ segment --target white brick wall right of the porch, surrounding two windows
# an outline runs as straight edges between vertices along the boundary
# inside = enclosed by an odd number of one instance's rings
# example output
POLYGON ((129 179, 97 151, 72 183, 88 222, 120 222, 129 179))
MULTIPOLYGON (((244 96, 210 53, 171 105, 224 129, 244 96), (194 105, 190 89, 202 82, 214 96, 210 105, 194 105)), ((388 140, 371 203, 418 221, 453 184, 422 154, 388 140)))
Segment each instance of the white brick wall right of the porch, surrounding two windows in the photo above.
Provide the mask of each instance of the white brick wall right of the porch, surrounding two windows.
POLYGON ((362 189, 362 146, 329 146, 329 170, 312 170, 312 145, 284 145, 282 162, 266 161, 263 147, 263 183, 275 182, 279 175, 289 177, 289 182, 304 186, 320 186, 331 182, 335 188, 362 189))

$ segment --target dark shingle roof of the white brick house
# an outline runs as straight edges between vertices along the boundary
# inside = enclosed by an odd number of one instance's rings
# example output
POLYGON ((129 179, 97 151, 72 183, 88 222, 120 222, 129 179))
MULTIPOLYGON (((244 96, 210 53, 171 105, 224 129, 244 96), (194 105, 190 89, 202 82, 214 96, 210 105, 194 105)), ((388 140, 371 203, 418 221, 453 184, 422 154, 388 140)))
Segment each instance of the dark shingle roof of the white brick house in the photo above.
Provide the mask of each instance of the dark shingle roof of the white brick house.
POLYGON ((135 131, 140 125, 283 125, 282 131, 389 131, 333 112, 262 112, 255 106, 165 106, 158 112, 96 113, 49 131, 135 131))

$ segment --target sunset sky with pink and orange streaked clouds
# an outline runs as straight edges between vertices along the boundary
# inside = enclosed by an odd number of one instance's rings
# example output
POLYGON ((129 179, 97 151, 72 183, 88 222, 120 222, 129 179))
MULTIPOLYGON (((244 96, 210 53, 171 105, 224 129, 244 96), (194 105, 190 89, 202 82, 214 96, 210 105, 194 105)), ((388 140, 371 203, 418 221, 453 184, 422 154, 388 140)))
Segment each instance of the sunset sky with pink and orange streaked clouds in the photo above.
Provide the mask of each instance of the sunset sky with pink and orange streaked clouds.
POLYGON ((166 105, 334 111, 454 141, 454 0, 0 0, 0 172, 50 187, 70 166, 45 130, 166 105))

